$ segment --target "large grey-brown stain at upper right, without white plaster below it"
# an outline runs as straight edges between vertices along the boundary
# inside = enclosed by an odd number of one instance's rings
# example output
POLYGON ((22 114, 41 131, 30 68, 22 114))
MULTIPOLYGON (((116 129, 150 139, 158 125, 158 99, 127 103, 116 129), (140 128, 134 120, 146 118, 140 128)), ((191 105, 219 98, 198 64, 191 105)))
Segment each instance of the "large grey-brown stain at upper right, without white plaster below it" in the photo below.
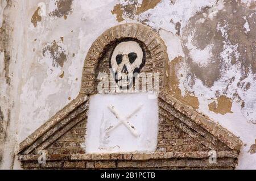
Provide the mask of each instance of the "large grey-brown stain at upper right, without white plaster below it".
POLYGON ((210 14, 210 7, 205 7, 189 19, 183 30, 183 51, 192 74, 204 86, 212 87, 232 65, 241 70, 241 81, 250 71, 256 78, 254 12, 240 2, 225 1, 224 7, 216 14, 210 14), (245 28, 246 22, 250 31, 245 28), (193 49, 197 52, 209 49, 208 60, 196 60, 197 57, 191 54, 193 49))

